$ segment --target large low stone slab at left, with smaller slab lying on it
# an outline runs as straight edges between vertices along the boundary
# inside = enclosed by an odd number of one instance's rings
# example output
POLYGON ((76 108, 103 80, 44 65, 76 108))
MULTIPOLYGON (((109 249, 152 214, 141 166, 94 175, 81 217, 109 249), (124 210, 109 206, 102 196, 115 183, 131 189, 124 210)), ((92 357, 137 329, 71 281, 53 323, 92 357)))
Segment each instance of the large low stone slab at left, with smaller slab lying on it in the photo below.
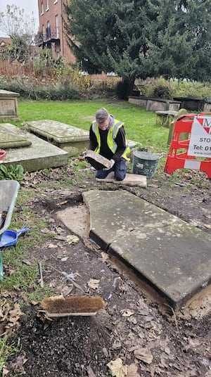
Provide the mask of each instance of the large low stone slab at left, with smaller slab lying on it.
POLYGON ((49 167, 58 167, 68 164, 70 155, 68 152, 53 146, 51 143, 40 139, 39 137, 26 132, 23 129, 13 126, 13 124, 0 124, 7 134, 17 133, 24 139, 30 141, 30 146, 24 148, 8 149, 7 155, 0 163, 4 165, 23 165, 25 172, 34 172, 36 170, 47 169, 49 167))

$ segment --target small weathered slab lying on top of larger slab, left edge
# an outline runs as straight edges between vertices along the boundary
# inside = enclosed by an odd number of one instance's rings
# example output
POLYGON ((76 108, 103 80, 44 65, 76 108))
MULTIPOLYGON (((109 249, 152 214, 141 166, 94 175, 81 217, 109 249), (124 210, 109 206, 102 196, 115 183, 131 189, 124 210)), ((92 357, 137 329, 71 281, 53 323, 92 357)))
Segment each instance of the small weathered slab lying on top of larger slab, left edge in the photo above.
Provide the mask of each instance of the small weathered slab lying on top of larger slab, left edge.
POLYGON ((25 137, 20 135, 18 129, 15 127, 15 131, 8 131, 10 124, 4 123, 0 125, 0 148, 20 148, 24 146, 30 146, 32 142, 25 139, 25 137))

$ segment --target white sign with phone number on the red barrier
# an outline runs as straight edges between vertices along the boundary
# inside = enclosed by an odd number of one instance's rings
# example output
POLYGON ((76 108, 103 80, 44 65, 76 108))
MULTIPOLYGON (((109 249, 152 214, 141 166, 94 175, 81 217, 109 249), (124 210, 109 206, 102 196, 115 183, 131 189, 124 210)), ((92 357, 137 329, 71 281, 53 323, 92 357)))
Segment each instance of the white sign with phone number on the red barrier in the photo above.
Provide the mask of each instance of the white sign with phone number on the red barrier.
POLYGON ((211 158, 211 117, 194 117, 187 154, 211 158))

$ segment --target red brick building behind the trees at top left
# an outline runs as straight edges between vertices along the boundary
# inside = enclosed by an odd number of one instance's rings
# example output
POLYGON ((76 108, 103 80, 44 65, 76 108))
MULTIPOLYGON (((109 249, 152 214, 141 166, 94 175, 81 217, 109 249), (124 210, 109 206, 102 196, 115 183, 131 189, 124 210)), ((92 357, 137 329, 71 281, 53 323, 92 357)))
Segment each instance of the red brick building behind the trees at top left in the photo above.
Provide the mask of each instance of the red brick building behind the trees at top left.
POLYGON ((68 0, 38 0, 40 47, 51 49, 53 56, 63 56, 65 63, 75 63, 65 39, 63 18, 65 18, 64 4, 68 0))

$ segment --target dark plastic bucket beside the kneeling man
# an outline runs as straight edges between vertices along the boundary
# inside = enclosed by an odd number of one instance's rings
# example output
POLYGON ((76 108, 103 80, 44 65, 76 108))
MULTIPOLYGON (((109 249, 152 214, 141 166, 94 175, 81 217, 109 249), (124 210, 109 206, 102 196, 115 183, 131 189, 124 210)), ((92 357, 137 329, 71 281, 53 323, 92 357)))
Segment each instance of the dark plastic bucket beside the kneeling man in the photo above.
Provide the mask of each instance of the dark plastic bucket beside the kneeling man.
POLYGON ((142 151, 134 151, 133 173, 152 178, 158 165, 159 155, 142 151))

